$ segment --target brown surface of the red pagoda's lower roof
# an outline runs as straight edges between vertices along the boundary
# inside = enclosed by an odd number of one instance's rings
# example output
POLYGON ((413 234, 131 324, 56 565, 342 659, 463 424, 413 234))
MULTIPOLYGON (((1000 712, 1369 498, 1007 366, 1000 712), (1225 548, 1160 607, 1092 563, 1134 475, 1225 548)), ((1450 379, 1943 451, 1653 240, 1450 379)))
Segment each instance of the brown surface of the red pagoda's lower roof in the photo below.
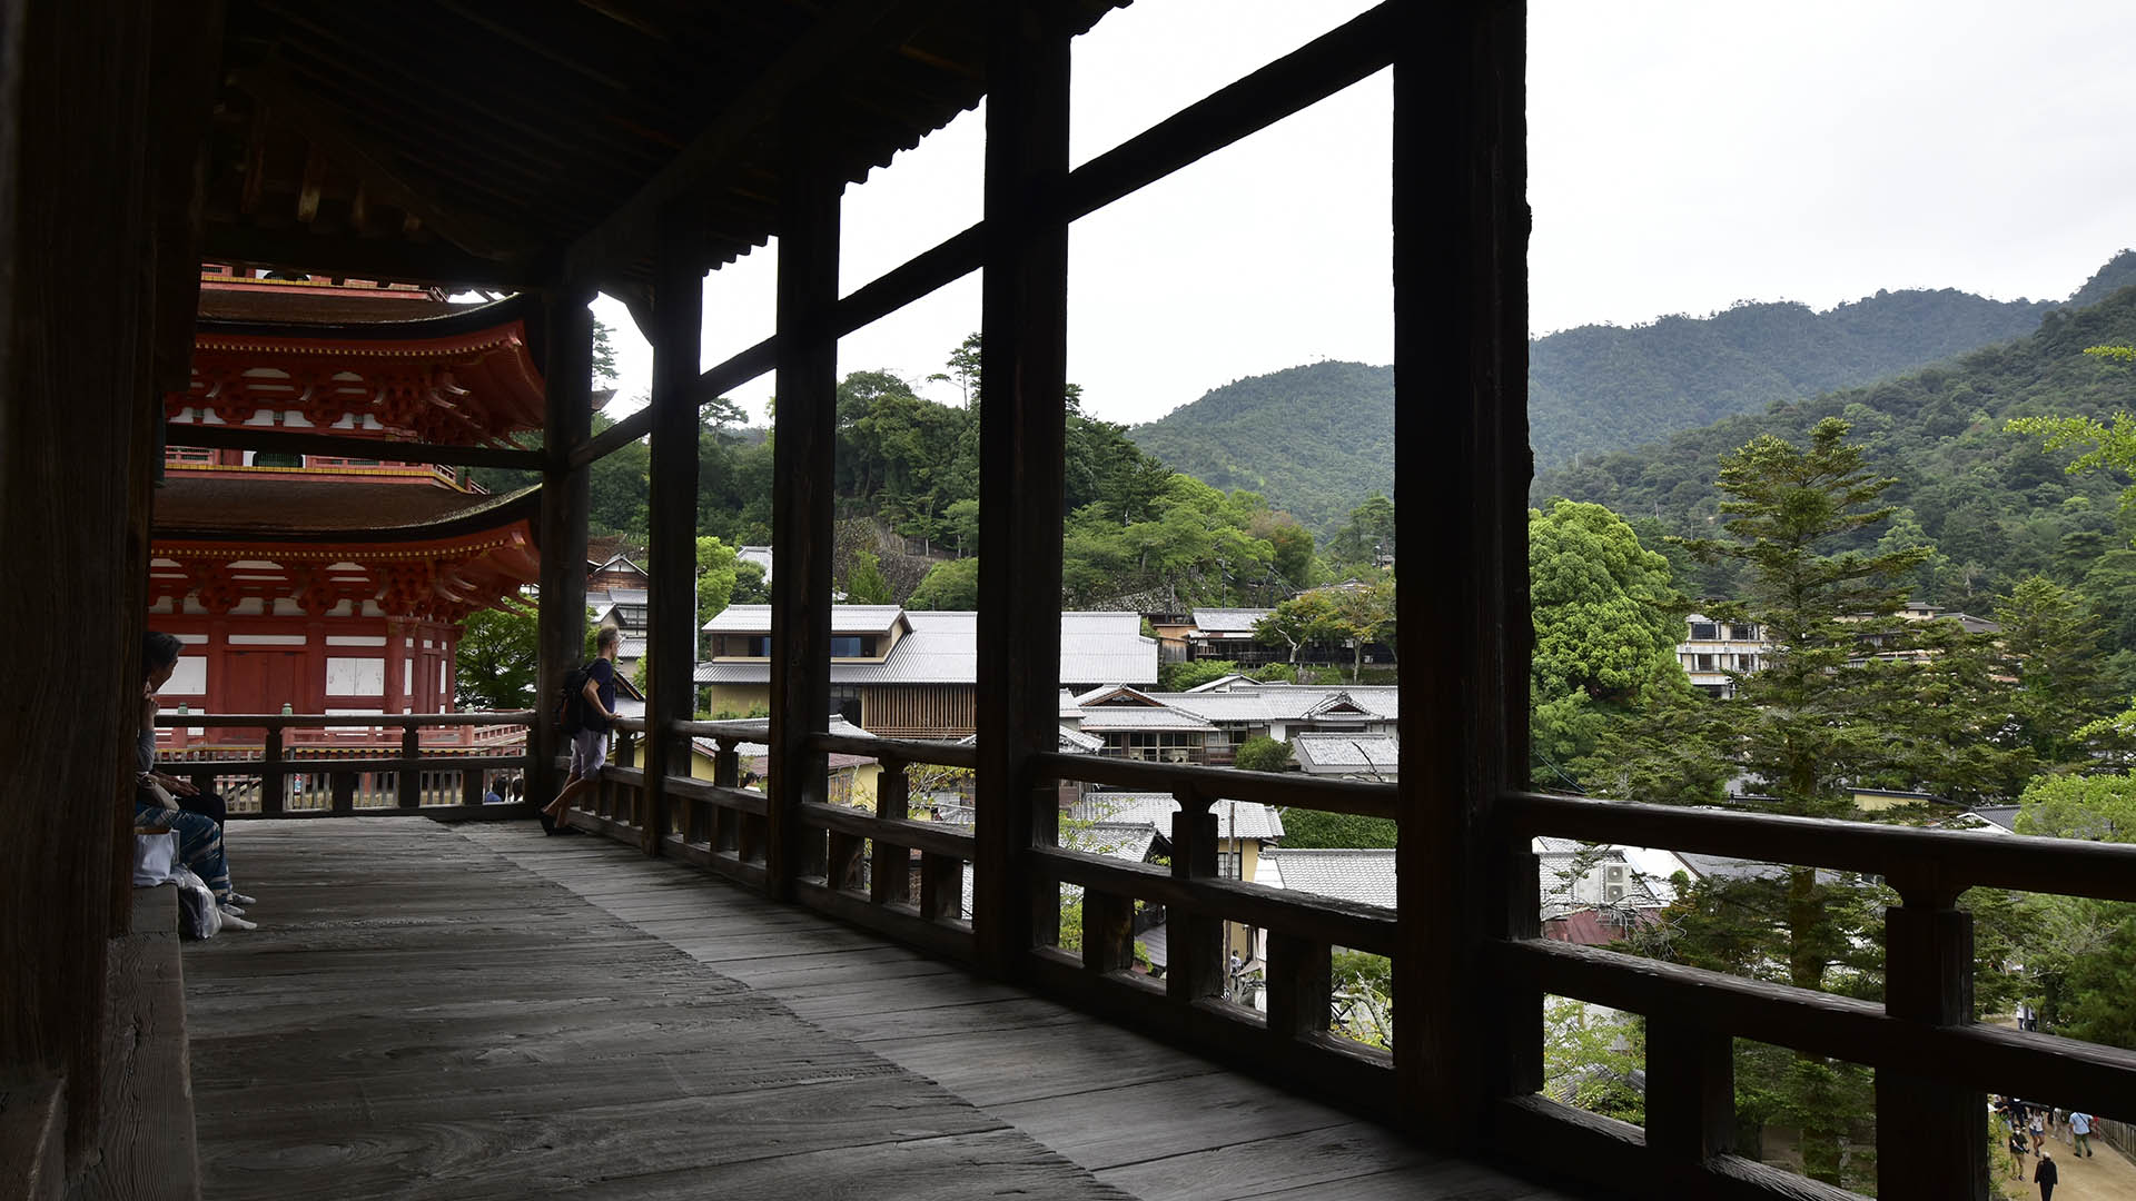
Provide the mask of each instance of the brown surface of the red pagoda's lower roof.
POLYGON ((308 481, 297 470, 256 479, 171 472, 156 489, 156 541, 404 543, 530 521, 540 487, 502 496, 406 483, 308 481))

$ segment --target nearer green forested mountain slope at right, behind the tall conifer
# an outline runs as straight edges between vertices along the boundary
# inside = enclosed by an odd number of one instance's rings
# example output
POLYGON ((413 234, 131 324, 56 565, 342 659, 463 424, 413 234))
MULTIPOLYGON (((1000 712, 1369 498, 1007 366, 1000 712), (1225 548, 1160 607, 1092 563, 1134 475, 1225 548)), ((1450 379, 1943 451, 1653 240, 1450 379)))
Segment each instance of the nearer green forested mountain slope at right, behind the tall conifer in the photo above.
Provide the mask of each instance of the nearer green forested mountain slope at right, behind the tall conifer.
MULTIPOLYGON (((1873 468, 1899 481, 1884 494, 1899 513, 1869 539, 1935 545, 1912 581, 1916 600, 1984 613, 2016 581, 2048 575, 2095 605, 2123 652, 2121 675, 2136 684, 2136 515, 2119 506, 2127 481, 2072 477, 2070 451, 2046 453, 2038 436, 2004 430, 2010 417, 2113 419, 2136 408, 2136 370, 2083 353, 2130 342, 2136 286, 2089 308, 2057 308, 2019 342, 1561 466, 1538 477, 1534 496, 1606 504, 1649 545, 1662 532, 1707 534, 1719 515, 1713 474, 1724 453, 1758 434, 1801 442, 1820 419, 1843 417, 1873 468)), ((1690 568, 1679 562, 1679 571, 1690 568)), ((1713 568, 1690 571, 1687 588, 1734 592, 1713 568)))

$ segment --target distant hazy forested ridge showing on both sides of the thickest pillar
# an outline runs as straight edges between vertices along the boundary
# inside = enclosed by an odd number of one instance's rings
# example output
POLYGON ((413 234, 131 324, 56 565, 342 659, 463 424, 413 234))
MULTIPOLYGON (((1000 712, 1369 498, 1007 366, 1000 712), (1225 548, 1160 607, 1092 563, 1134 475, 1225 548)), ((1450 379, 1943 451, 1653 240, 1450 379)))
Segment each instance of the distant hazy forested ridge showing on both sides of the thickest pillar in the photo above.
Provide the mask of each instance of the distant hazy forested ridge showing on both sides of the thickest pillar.
MULTIPOLYGON (((2123 250, 2068 303, 2083 308, 2127 284, 2136 284, 2136 252, 2123 250)), ((1831 312, 1743 301, 1713 316, 1551 333, 1527 353, 1536 468, 2025 338, 2057 308, 1954 288, 1880 291, 1831 312)), ((1312 363, 1250 376, 1128 436, 1173 470, 1260 492, 1326 534, 1367 494, 1393 492, 1395 374, 1312 363)))

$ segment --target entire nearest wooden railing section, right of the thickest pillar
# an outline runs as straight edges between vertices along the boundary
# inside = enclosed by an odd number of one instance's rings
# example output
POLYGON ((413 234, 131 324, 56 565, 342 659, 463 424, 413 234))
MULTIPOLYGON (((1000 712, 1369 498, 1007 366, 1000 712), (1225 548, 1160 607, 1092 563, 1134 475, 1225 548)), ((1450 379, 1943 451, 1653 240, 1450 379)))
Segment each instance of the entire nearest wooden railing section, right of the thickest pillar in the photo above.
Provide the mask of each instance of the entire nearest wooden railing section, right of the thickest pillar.
MULTIPOLYGON (((1534 908, 1510 906, 1514 930, 1489 951, 1508 981, 1497 1036, 1540 1083, 1542 996, 1570 996, 1647 1019, 1647 1126, 1625 1126, 1527 1092, 1499 1098, 1504 1148, 1557 1145, 1623 1180, 1702 1192, 1786 1184, 1822 1195, 1734 1154, 1732 1041, 1831 1056, 1875 1069, 1878 1171, 1884 1182, 1939 1182, 1974 1197, 1986 1180, 1984 1092, 2125 1113, 2136 1051, 1976 1021, 1969 887, 2136 902, 2136 846, 2059 838, 1986 838, 1848 821, 1632 806, 1512 793, 1499 799, 1512 889, 1538 885, 1534 836, 1666 846, 1882 876, 1901 904, 1886 910, 1884 1002, 1764 983, 1598 947, 1549 942, 1534 908)), ((1892 1184, 1897 1188, 1897 1184, 1892 1184)), ((1839 1190, 1831 1190, 1839 1197, 1839 1190)))

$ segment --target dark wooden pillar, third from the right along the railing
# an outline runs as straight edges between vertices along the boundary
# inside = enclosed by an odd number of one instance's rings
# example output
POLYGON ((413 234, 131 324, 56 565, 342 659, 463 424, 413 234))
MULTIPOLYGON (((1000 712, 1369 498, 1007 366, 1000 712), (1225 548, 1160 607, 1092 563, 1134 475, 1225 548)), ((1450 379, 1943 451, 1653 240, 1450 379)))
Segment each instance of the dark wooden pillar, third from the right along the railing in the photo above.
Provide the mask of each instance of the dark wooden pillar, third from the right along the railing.
POLYGON ((837 421, 837 224, 844 182, 814 154, 822 126, 799 113, 780 139, 778 415, 771 502, 771 806, 765 887, 792 900, 822 874, 822 831, 801 801, 827 799, 829 763, 807 737, 831 712, 831 477, 837 421))

